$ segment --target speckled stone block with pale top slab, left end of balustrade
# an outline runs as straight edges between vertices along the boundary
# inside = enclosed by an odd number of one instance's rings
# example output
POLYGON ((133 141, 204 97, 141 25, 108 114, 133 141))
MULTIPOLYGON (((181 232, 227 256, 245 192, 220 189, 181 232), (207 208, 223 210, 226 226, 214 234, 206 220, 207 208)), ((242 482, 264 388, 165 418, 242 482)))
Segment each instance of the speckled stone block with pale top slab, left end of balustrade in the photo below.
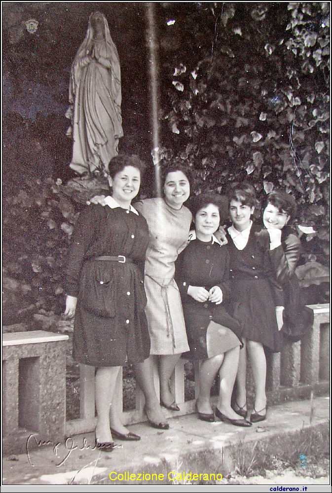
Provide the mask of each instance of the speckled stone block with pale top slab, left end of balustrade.
POLYGON ((2 336, 3 452, 65 436, 67 335, 36 330, 2 336))

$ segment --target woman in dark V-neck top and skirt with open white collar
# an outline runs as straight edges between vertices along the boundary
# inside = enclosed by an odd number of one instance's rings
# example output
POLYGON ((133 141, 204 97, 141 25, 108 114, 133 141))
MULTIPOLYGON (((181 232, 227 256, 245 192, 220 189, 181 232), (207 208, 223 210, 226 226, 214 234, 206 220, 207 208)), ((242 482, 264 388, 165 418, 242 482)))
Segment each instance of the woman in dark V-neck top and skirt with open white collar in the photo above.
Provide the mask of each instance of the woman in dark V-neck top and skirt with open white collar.
MULTIPOLYGON (((266 417, 266 358, 264 346, 278 351, 279 331, 275 307, 275 278, 269 253, 257 240, 251 220, 256 204, 252 187, 234 190, 229 196, 229 215, 233 225, 228 231, 230 280, 234 297, 233 316, 244 325, 244 347, 240 351, 236 379, 235 411, 247 415, 246 369, 248 350, 255 382, 255 408, 251 422, 266 417)), ((261 228, 259 228, 261 229, 261 228)), ((280 291, 280 290, 279 290, 280 291)))

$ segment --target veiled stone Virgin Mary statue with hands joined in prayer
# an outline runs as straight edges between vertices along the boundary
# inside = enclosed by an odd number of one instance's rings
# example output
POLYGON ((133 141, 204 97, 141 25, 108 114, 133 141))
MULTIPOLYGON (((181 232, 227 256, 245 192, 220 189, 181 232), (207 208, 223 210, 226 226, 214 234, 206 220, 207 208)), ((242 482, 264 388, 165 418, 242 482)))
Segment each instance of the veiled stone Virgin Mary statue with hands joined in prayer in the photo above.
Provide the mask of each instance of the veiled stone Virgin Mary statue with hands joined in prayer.
MULTIPOLYGON (((105 15, 90 15, 86 36, 76 53, 69 85, 73 158, 78 174, 108 173, 123 137, 120 62, 105 15), (73 111, 74 110, 74 111, 73 111)), ((71 131, 67 132, 69 135, 71 131)))

